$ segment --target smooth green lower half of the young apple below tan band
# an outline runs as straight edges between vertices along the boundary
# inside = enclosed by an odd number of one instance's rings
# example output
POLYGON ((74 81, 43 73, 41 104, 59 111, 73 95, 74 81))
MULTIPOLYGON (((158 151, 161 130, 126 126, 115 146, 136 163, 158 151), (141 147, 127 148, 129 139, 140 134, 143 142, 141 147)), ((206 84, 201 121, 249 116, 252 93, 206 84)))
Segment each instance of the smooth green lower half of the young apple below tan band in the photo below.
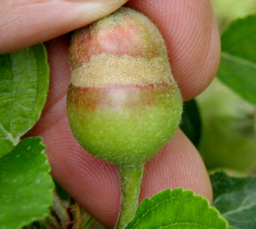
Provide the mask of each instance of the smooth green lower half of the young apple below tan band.
POLYGON ((180 96, 164 85, 68 91, 68 120, 78 142, 117 165, 145 163, 179 126, 180 96))

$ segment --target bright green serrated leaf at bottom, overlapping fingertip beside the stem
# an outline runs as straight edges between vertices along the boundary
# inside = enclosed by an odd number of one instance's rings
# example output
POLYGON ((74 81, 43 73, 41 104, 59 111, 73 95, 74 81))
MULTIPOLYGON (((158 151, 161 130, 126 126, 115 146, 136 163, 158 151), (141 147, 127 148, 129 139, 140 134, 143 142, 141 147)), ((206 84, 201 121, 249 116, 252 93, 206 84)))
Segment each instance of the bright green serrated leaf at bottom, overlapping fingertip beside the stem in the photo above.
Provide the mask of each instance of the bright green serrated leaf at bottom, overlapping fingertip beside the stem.
POLYGON ((143 200, 134 219, 125 227, 132 228, 224 229, 227 221, 203 196, 177 188, 143 200))

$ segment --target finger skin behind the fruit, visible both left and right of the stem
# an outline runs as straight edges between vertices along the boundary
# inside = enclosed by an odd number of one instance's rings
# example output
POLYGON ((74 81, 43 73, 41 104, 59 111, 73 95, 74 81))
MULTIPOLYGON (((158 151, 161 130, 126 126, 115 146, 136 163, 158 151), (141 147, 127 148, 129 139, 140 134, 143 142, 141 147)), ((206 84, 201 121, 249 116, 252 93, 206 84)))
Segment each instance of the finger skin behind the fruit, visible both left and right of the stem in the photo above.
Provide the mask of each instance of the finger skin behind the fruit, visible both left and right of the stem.
MULTIPOLYGON (((70 81, 69 34, 45 43, 51 66, 47 104, 29 135, 47 145, 52 175, 93 217, 113 228, 120 204, 120 182, 115 165, 90 156, 73 137, 67 121, 66 94, 70 81)), ((147 163, 141 200, 166 188, 193 189, 211 200, 211 185, 195 147, 178 131, 164 149, 147 163), (154 181, 153 181, 154 180, 154 181)))

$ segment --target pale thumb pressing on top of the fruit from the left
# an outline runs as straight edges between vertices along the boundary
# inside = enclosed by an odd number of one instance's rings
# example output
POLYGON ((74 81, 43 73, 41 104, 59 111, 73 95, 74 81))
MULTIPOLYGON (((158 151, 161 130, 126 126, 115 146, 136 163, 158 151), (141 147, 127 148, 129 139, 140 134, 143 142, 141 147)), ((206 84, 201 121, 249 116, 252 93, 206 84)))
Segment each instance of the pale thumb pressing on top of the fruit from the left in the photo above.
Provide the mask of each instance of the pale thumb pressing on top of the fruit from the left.
POLYGON ((117 10, 127 0, 1 0, 0 54, 51 40, 117 10))

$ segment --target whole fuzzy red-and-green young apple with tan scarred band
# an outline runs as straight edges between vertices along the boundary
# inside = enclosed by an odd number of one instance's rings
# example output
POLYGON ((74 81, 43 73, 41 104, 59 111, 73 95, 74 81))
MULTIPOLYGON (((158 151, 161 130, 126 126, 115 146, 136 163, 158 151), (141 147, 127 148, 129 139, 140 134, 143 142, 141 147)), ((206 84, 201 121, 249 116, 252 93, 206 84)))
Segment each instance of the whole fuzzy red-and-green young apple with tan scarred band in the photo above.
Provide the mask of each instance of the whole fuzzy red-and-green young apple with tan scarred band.
POLYGON ((163 38, 145 15, 121 8, 76 31, 70 64, 70 128, 97 158, 142 164, 175 133, 182 97, 163 38))

